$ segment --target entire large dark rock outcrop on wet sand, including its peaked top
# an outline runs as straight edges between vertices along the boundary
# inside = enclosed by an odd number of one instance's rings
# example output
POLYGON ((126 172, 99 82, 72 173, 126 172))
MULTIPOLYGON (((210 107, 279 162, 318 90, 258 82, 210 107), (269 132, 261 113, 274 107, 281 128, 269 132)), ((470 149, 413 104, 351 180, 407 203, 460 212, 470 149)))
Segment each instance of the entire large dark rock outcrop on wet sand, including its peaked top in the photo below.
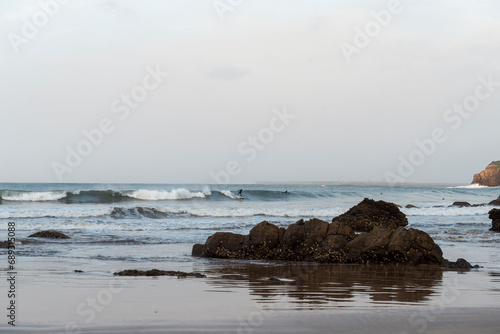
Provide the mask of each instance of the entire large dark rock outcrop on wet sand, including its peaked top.
MULTIPOLYGON (((497 211, 492 210, 492 217, 498 217, 497 211)), ((193 256, 467 267, 462 261, 457 265, 445 260, 441 248, 427 233, 406 229, 406 224, 406 216, 394 204, 365 199, 330 224, 301 219, 285 230, 264 221, 247 236, 218 232, 205 245, 194 245, 193 256), (356 234, 353 226, 369 231, 356 234)))

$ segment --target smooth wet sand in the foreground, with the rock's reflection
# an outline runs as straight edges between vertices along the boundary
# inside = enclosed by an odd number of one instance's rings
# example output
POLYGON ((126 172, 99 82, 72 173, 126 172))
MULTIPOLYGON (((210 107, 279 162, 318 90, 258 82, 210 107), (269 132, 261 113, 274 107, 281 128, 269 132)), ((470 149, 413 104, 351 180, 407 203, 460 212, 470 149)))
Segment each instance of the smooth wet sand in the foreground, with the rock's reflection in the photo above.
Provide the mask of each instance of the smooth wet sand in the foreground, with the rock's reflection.
MULTIPOLYGON (((207 278, 112 275, 130 264, 85 270, 49 258, 24 263, 17 326, 4 320, 0 332, 497 333, 500 327, 500 274, 487 270, 217 260, 161 265, 133 269, 207 278)), ((5 310, 6 298, 0 306, 5 310)))

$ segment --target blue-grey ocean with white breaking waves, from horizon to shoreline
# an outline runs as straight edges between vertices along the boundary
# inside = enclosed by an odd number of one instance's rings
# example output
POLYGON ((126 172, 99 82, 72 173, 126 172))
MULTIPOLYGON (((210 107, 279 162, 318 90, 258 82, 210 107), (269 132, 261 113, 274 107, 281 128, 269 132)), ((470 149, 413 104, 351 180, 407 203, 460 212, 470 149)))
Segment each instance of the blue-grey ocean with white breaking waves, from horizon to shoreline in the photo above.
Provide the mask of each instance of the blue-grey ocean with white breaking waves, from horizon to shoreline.
MULTIPOLYGON (((0 184, 0 240, 16 223, 18 262, 53 259, 85 268, 175 268, 210 261, 191 257, 217 231, 246 234, 263 220, 331 221, 363 198, 401 205, 409 227, 426 231, 446 258, 500 269, 500 233, 490 232, 489 203, 500 188, 477 186, 0 184), (243 189, 243 198, 237 195, 243 189), (418 208, 406 209, 412 204, 418 208), (55 229, 66 240, 28 238, 55 229)), ((75 268, 81 269, 81 268, 75 268)))

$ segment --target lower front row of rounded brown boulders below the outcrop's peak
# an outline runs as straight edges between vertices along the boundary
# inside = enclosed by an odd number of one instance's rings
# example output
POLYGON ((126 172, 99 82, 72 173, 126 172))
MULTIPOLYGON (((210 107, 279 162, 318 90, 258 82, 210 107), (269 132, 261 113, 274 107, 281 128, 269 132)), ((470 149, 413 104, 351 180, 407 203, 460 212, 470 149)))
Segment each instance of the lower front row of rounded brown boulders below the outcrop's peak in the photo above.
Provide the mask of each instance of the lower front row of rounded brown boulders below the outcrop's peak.
MULTIPOLYGON (((262 222, 253 230, 276 228, 262 222)), ((432 238, 416 229, 388 229, 375 226, 356 235, 344 223, 312 219, 288 227, 283 238, 269 243, 250 244, 249 236, 218 232, 205 245, 193 246, 193 255, 227 259, 265 259, 328 263, 411 263, 441 264, 443 253, 432 238), (245 240, 245 241, 243 241, 245 240), (274 243, 273 243, 274 244, 274 243)))

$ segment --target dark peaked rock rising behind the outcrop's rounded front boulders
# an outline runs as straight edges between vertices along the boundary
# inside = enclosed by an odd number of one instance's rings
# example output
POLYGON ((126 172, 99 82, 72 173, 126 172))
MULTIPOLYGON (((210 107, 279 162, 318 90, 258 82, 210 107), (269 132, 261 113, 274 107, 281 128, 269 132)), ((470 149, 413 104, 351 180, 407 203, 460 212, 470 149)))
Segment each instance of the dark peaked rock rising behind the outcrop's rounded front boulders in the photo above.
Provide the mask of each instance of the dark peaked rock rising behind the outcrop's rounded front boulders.
POLYGON ((395 229, 408 225, 408 219, 396 204, 368 198, 333 218, 333 222, 345 223, 358 232, 370 232, 375 226, 395 229))

